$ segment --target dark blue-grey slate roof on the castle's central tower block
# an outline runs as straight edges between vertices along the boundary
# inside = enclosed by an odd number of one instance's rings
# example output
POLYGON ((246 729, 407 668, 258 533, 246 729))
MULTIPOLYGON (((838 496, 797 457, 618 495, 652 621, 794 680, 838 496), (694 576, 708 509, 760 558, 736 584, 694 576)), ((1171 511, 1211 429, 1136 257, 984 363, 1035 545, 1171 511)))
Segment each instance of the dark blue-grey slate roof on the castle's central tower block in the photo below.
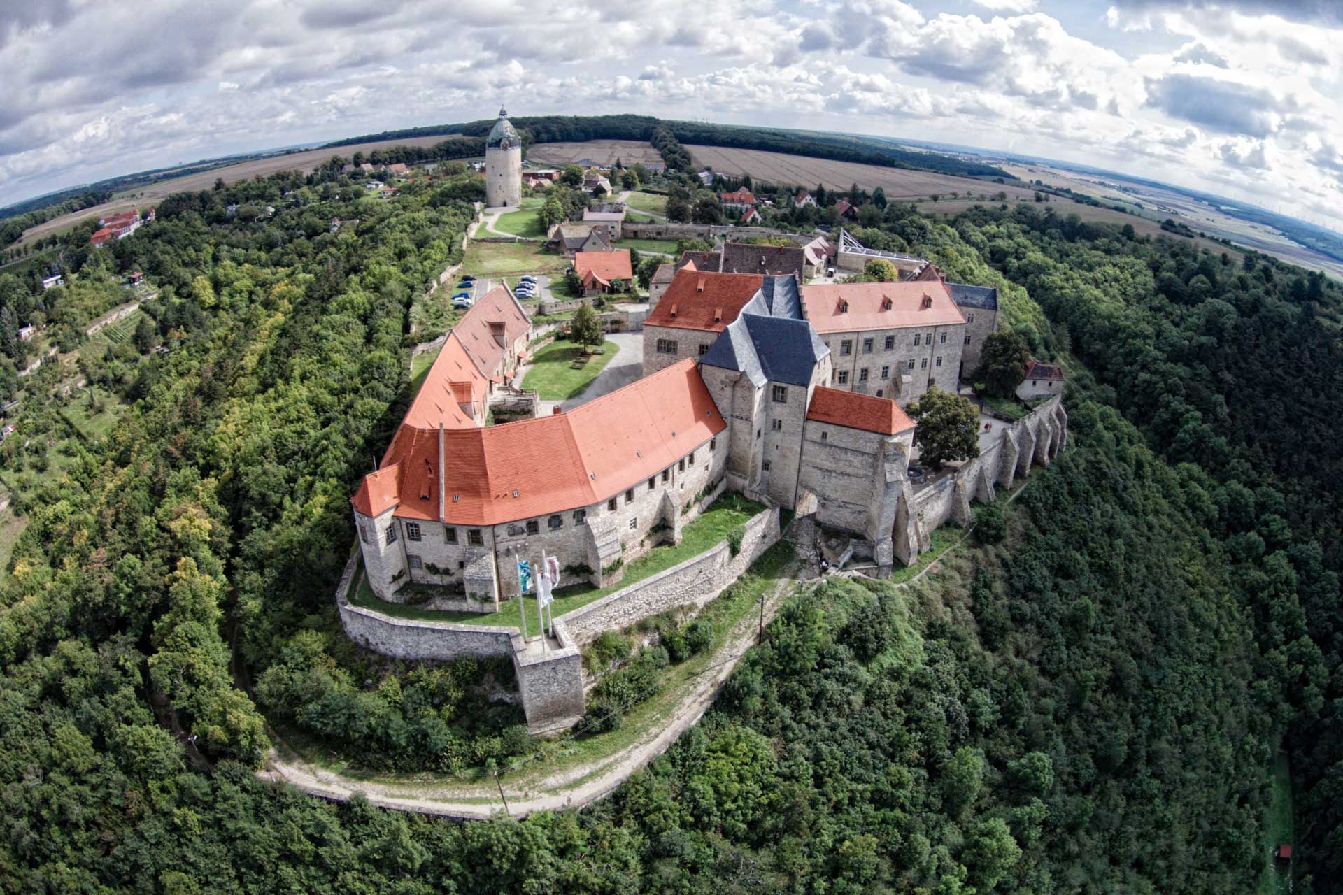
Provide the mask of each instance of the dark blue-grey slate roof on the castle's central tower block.
MULTIPOLYGON (((749 305, 747 306, 749 307, 749 305)), ((802 319, 743 314, 732 321, 700 358, 701 364, 745 373, 751 382, 808 385, 830 349, 802 319)))

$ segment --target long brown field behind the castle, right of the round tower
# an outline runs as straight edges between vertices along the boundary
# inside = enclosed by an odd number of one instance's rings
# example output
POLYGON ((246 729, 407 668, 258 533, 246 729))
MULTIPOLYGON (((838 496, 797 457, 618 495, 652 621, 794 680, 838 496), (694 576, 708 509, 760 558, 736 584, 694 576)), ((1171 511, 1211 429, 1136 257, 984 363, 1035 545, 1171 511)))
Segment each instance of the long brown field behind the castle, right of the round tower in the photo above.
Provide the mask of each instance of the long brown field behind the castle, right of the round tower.
POLYGON ((686 146, 686 149, 694 157, 696 165, 708 165, 724 174, 751 174, 756 180, 771 184, 796 184, 808 189, 817 184, 825 184, 826 189, 849 189, 851 184, 858 184, 865 189, 881 187, 886 199, 920 199, 933 193, 947 197, 951 193, 992 196, 999 191, 1006 191, 1009 199, 1014 196, 1033 199, 1035 195, 1035 191, 1025 187, 1005 187, 991 180, 954 177, 928 170, 884 168, 855 161, 830 161, 759 149, 727 146, 686 146))

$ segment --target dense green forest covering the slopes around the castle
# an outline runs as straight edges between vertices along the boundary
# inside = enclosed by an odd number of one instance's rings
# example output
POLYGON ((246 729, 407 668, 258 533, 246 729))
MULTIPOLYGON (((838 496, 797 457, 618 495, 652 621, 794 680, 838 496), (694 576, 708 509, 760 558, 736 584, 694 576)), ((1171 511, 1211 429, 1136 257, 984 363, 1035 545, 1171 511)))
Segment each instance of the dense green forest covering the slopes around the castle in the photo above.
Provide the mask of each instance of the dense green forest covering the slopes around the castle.
POLYGON ((466 180, 380 201, 333 166, 278 174, 71 252, 82 282, 142 270, 160 295, 149 350, 111 352, 120 423, 16 495, 0 892, 1248 892, 1280 741, 1295 891, 1339 891, 1339 290, 1030 208, 892 205, 860 235, 998 284, 1069 365, 1069 447, 1005 526, 912 589, 799 598, 583 812, 458 825, 258 778, 267 721, 389 768, 530 747, 466 691, 481 670, 372 662, 330 598, 466 180))

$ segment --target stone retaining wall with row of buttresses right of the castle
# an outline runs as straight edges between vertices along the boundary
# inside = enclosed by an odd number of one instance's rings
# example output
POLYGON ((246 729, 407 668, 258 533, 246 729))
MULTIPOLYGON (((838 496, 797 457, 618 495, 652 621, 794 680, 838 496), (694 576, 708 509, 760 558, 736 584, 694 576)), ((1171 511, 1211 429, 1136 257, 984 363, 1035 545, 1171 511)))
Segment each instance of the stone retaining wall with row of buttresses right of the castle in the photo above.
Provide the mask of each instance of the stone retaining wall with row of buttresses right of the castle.
POLYGON ((1049 466, 1068 443, 1068 413, 1056 396, 1002 428, 999 440, 954 475, 917 494, 905 484, 893 531, 894 554, 909 565, 931 549, 932 533, 948 519, 968 526, 970 502, 988 503, 998 487, 1030 474, 1033 464, 1049 466))

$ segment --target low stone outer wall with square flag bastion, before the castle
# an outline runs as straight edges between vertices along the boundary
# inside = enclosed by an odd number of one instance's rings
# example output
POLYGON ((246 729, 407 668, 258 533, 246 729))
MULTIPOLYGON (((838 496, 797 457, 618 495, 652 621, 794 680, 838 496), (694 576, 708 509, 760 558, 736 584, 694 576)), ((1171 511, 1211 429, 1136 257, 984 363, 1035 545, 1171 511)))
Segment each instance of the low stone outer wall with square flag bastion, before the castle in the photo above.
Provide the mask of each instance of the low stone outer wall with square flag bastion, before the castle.
POLYGON ((525 641, 516 628, 398 619, 352 605, 348 594, 359 570, 357 550, 345 564, 336 588, 336 605, 349 639, 384 656, 439 662, 509 656, 517 672, 528 730, 552 733, 583 717, 582 644, 603 631, 623 628, 667 609, 704 607, 778 539, 779 510, 770 507, 747 521, 736 556, 729 541, 720 541, 666 572, 556 617, 557 648, 541 648, 537 639, 525 641))

